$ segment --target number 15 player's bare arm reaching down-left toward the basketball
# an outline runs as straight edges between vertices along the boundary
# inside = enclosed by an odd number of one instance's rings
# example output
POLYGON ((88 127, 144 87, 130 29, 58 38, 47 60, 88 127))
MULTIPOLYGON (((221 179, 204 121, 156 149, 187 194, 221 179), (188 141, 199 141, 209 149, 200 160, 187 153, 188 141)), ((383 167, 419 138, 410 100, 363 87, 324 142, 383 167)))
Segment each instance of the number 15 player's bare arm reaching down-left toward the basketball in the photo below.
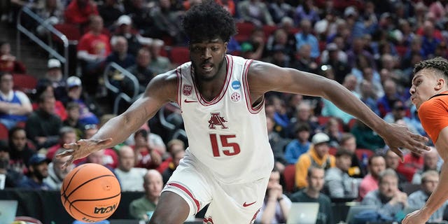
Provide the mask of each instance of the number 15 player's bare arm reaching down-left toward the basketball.
POLYGON ((64 164, 65 167, 73 160, 85 158, 94 151, 120 144, 152 118, 163 104, 175 101, 176 87, 177 77, 174 71, 156 76, 146 87, 144 95, 127 111, 109 120, 91 139, 80 139, 71 144, 64 144, 67 150, 56 156, 70 156, 64 164))

